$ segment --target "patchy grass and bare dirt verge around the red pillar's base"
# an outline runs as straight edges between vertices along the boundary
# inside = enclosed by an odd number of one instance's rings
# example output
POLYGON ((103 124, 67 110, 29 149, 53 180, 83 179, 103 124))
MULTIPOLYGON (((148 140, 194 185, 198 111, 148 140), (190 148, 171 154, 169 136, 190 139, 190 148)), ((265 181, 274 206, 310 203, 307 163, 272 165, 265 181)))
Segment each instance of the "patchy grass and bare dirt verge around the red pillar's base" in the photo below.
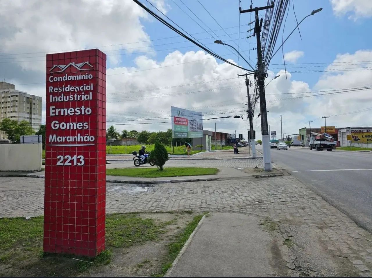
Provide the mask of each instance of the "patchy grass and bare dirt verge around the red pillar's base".
POLYGON ((164 264, 169 263, 170 243, 177 241, 195 215, 190 211, 108 215, 106 251, 95 259, 44 254, 42 217, 27 221, 24 218, 3 219, 6 226, 0 234, 0 243, 4 245, 0 254, 0 276, 144 277, 161 274, 164 264), (12 232, 15 228, 22 232, 15 235, 12 232), (4 240, 9 244, 4 244, 4 240))

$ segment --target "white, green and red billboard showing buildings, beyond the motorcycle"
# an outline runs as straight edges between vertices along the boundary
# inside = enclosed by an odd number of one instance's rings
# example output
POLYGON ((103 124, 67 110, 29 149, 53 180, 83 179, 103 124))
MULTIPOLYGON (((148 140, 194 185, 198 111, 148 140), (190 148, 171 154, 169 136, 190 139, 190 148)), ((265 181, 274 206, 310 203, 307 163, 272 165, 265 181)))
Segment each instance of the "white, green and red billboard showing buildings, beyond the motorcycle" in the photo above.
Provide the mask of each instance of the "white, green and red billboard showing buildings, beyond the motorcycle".
POLYGON ((171 106, 172 137, 203 137, 203 113, 171 106))

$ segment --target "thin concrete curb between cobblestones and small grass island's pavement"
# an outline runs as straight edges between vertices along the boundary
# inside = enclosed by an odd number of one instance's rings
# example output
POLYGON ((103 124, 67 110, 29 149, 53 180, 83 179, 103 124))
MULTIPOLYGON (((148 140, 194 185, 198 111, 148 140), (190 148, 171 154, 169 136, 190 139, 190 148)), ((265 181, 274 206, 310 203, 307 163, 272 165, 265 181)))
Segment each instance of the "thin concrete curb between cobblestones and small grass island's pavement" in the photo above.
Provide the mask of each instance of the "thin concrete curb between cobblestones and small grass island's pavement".
MULTIPOLYGON (((38 178, 44 179, 44 175, 35 175, 35 174, 0 174, 0 177, 29 177, 29 178, 38 178)), ((212 180, 225 180, 230 178, 200 178, 200 179, 180 179, 180 180, 112 180, 106 179, 108 183, 130 183, 130 184, 158 184, 158 183, 186 183, 193 181, 212 181, 212 180)), ((233 178, 231 178, 233 179, 233 178)))

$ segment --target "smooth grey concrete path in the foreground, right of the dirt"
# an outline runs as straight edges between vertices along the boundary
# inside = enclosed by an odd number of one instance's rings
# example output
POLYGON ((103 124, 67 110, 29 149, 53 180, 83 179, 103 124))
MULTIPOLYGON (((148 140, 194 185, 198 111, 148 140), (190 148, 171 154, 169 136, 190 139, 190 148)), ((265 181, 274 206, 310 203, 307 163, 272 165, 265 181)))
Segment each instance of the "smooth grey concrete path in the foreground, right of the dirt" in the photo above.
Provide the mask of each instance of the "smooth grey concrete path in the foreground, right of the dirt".
POLYGON ((285 248, 277 246, 255 216, 215 212, 207 216, 166 276, 287 276, 277 264, 285 248), (281 250, 283 249, 283 250, 281 250))

